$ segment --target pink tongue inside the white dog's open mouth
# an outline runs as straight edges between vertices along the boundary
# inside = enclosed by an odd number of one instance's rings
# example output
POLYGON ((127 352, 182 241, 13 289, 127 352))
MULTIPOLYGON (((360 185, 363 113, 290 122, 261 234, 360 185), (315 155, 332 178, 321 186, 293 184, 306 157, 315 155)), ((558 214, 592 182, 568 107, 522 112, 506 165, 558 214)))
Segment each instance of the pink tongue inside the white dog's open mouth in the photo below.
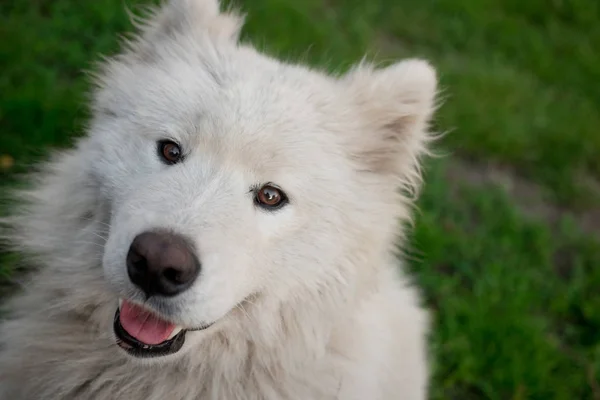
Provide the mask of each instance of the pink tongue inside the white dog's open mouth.
POLYGON ((120 322, 127 333, 145 344, 162 343, 175 329, 172 323, 126 300, 121 304, 120 322))

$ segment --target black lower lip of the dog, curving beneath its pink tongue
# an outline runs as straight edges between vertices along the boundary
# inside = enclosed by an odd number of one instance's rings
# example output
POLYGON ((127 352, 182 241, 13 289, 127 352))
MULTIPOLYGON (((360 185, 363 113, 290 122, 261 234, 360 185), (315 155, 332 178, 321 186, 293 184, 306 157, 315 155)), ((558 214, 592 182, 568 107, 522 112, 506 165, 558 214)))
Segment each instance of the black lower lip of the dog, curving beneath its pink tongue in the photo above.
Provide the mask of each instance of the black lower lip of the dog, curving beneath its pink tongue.
POLYGON ((142 343, 131 336, 121 325, 121 320, 119 318, 120 315, 121 312, 119 308, 117 308, 113 321, 113 329, 115 331, 115 335, 117 336, 117 345, 125 350, 128 354, 137 358, 154 358, 175 354, 183 347, 183 344, 185 343, 186 332, 201 331, 210 326, 206 325, 200 328, 183 329, 169 340, 165 340, 159 344, 150 345, 142 343))

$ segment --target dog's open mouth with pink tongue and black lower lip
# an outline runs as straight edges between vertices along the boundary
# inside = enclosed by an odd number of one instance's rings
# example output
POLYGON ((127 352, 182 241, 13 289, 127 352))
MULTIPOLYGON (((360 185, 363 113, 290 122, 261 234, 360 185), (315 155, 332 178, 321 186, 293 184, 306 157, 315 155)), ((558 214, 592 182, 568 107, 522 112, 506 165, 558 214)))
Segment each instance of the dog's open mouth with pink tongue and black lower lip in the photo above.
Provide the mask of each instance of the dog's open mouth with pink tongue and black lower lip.
POLYGON ((117 345, 139 358, 175 354, 183 346, 186 332, 209 326, 184 329, 127 300, 117 308, 113 323, 117 345))

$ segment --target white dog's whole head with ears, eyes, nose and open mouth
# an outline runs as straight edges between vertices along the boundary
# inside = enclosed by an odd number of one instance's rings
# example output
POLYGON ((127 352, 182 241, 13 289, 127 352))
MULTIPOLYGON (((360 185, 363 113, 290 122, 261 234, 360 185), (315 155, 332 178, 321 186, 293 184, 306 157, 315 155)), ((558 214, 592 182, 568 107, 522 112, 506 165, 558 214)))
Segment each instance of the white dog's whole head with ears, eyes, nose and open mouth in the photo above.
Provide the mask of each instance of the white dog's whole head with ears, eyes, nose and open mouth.
POLYGON ((100 76, 103 267, 137 356, 179 350, 256 296, 350 296, 369 252, 391 245, 397 189, 417 180, 426 63, 334 78, 237 44, 239 26, 212 0, 172 1, 100 76))

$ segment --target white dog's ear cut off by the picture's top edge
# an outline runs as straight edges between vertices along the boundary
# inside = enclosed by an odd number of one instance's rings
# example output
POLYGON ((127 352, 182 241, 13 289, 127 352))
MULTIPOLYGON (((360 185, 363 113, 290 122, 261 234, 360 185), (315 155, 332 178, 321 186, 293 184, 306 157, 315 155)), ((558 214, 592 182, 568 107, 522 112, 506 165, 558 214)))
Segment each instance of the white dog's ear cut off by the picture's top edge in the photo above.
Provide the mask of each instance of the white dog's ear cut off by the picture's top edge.
POLYGON ((139 24, 142 37, 151 43, 177 33, 237 41, 242 25, 243 17, 233 10, 221 12, 218 0, 167 0, 139 24))

